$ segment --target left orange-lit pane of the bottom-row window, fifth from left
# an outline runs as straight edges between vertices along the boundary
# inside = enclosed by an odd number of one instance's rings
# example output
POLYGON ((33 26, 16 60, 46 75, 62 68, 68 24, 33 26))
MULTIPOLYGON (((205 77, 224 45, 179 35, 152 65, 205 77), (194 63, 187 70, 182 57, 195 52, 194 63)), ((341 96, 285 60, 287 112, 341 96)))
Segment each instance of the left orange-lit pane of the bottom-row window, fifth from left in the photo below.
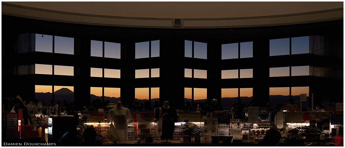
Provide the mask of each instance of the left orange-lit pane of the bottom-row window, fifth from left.
POLYGON ((238 103, 238 89, 237 88, 222 88, 221 89, 221 106, 231 107, 234 103, 238 103))

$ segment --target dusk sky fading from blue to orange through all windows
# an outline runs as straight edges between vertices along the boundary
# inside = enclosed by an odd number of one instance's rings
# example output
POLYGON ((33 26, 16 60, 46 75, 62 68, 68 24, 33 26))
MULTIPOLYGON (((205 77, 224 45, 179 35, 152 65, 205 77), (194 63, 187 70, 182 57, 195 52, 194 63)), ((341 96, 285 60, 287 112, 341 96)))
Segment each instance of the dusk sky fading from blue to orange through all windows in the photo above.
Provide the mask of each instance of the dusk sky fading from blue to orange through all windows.
MULTIPOLYGON (((53 45, 53 36, 36 34, 35 50, 39 52, 52 52, 52 47, 55 46, 55 53, 74 54, 74 39, 69 37, 55 36, 55 44, 53 45)), ((149 41, 135 43, 135 58, 149 57, 149 41)), ((192 41, 185 40, 185 57, 192 57, 192 41)), ((91 41, 91 56, 102 57, 102 41, 91 41)), ((289 38, 271 39, 269 42, 270 56, 274 55, 288 55, 289 54, 289 38)), ((159 56, 159 40, 151 41, 151 57, 159 56)), ((291 40, 292 54, 309 53, 309 36, 294 37, 291 40)), ((121 58, 121 44, 104 42, 105 57, 121 58)), ((221 45, 221 59, 231 58, 247 58, 253 57, 253 42, 233 43, 221 45), (238 57, 238 48, 240 48, 240 57, 238 57)), ((207 59, 207 44, 201 42, 194 42, 194 57, 207 59)), ((35 73, 52 75, 52 65, 35 64, 35 73)), ((135 70, 135 78, 148 78, 149 70, 151 70, 151 77, 159 77, 159 68, 153 69, 137 69, 135 70)), ((269 69, 270 77, 289 76, 289 67, 277 67, 269 69)), ((192 76, 192 69, 185 69, 185 77, 207 78, 206 70, 193 69, 194 76, 192 76)), ((102 77, 102 68, 91 68, 91 77, 102 77)), ((118 69, 104 69, 104 77, 107 78, 121 78, 120 70, 118 69)), ((292 76, 309 75, 309 66, 297 66, 291 68, 292 76)), ((74 75, 73 66, 54 66, 54 75, 74 75)), ((253 69, 238 69, 222 70, 221 78, 252 78, 253 69)), ((52 86, 35 86, 35 92, 51 92, 52 86)), ((73 91, 73 87, 55 86, 54 91, 61 88, 68 88, 73 91)), ((102 88, 91 87, 90 94, 97 96, 102 95, 102 88)), ((136 88, 135 97, 138 99, 148 99, 149 88, 136 88)), ((307 93, 309 96, 308 87, 293 87, 292 95, 299 95, 300 93, 307 93)), ((289 88, 270 88, 270 95, 288 95, 289 88)), ((191 98, 191 88, 185 88, 185 98, 191 98)), ((105 96, 119 97, 120 88, 105 88, 105 96)), ((237 97, 237 89, 222 89, 222 97, 237 97)), ((241 88, 240 96, 253 96, 253 88, 241 88)), ((159 88, 151 88, 151 98, 159 98, 159 88)), ((194 88, 194 99, 206 99, 207 89, 194 88)))

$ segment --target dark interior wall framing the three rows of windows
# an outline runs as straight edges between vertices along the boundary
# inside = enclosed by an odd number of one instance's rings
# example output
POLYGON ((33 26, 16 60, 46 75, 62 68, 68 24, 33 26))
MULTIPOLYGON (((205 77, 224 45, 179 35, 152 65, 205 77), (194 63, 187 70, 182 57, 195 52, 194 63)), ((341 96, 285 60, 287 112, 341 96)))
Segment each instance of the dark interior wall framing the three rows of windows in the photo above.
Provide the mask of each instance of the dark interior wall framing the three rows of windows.
POLYGON ((221 88, 253 88, 253 100, 258 105, 268 101, 269 87, 309 86, 309 93, 315 93, 315 100, 342 98, 342 20, 258 28, 185 30, 67 24, 7 15, 2 15, 2 22, 2 36, 6 36, 2 38, 3 97, 20 95, 33 100, 34 85, 57 85, 74 86, 75 102, 80 106, 89 104, 90 87, 121 88, 121 101, 126 105, 134 100, 135 88, 150 87, 160 88, 160 104, 169 101, 176 107, 183 106, 186 87, 207 88, 207 99, 217 99, 218 104, 221 104, 221 88), (17 53, 18 36, 28 34, 27 39, 24 36, 28 43, 20 44, 29 48, 31 42, 31 48, 34 48, 34 33, 75 38, 75 54, 30 50, 17 53), (313 54, 269 56, 269 39, 298 36, 312 36, 313 54), (160 40, 160 57, 135 59, 135 43, 157 39, 160 40), (185 39, 207 43, 207 59, 184 57, 185 39), (91 57, 90 40, 121 43, 121 59, 91 57), (253 58, 221 60, 221 44, 249 41, 253 41, 253 58), (8 62, 14 58, 18 60, 8 62), (30 65, 34 64, 74 66, 75 75, 33 74, 34 68, 31 66, 30 71, 30 65), (27 69, 23 67, 27 71, 25 75, 17 73, 19 65, 27 65, 27 69), (269 77, 269 67, 305 65, 310 66, 311 76, 269 77), (121 79, 90 77, 90 67, 121 69, 121 79), (160 68, 160 77, 135 79, 135 69, 148 68, 160 68), (207 70, 207 79, 184 78, 184 68, 207 70), (250 68, 253 68, 253 78, 221 79, 221 70, 250 68))

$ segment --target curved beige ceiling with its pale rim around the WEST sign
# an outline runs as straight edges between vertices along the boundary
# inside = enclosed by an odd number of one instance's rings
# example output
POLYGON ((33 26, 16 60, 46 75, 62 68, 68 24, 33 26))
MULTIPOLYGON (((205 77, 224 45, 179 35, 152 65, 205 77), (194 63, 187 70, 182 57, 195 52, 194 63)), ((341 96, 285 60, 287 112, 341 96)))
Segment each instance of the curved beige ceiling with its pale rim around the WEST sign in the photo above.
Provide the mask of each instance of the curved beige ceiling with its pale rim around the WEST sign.
POLYGON ((343 2, 2 2, 2 14, 124 27, 254 27, 343 19, 343 2))

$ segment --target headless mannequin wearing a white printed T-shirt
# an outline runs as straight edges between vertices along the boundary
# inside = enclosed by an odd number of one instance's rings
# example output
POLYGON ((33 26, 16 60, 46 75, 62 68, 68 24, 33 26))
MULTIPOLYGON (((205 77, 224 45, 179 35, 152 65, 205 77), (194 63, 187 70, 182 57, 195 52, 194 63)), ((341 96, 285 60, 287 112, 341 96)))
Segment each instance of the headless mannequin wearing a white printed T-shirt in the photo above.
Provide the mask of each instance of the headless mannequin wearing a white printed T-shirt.
POLYGON ((116 107, 110 109, 108 112, 109 139, 113 143, 127 141, 127 123, 132 120, 129 109, 123 107, 121 104, 118 101, 116 107))

